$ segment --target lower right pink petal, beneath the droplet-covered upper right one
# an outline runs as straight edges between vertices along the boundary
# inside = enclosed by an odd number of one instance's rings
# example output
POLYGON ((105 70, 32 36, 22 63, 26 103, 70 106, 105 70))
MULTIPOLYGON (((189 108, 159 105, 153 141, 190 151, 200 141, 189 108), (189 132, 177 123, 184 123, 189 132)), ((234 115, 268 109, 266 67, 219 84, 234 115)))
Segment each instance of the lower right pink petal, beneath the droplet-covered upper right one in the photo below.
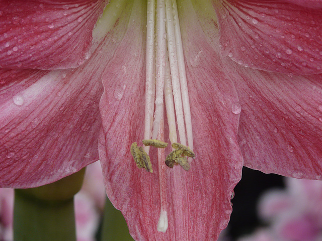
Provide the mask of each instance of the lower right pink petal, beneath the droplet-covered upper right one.
POLYGON ((242 109, 238 138, 244 165, 321 179, 322 75, 291 77, 240 67, 231 78, 242 109))

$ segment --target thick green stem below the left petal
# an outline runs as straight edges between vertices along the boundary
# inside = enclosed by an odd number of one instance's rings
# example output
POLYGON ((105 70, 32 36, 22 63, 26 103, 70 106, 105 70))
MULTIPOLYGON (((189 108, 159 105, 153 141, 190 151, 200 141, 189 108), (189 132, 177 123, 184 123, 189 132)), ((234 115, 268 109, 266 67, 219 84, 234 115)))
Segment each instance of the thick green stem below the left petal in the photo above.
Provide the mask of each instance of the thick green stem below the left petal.
POLYGON ((41 187, 16 189, 14 240, 75 241, 73 196, 82 187, 84 171, 41 187))

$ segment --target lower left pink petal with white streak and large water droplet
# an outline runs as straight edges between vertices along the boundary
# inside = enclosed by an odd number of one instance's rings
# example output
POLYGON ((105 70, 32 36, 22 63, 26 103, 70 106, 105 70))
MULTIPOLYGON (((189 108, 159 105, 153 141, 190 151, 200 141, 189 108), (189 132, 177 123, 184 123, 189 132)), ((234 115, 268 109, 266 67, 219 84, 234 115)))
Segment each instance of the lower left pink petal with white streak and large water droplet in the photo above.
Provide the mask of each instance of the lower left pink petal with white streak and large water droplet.
POLYGON ((0 88, 2 187, 47 184, 98 160, 102 86, 94 63, 77 70, 0 70, 8 82, 0 88))

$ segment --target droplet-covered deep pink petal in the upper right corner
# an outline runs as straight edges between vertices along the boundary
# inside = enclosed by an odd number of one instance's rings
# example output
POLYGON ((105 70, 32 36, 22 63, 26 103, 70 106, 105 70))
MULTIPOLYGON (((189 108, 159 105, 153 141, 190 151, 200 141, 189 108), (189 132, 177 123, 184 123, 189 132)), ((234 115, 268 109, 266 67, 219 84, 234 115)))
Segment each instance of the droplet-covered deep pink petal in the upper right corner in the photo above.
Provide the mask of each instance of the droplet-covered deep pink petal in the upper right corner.
MULTIPOLYGON (((303 1, 303 4, 308 2, 321 5, 320 1, 303 1)), ((282 1, 216 3, 223 57, 229 56, 246 67, 273 72, 322 72, 321 10, 282 1)))

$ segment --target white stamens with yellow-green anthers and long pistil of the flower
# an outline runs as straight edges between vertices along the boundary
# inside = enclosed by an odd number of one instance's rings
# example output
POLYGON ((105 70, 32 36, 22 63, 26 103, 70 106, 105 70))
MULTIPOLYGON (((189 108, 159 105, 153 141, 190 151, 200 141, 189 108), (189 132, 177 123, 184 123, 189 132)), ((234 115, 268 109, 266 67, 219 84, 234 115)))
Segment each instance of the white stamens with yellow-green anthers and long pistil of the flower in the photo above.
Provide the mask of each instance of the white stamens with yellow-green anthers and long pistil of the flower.
POLYGON ((158 148, 161 207, 157 230, 166 232, 167 166, 173 168, 179 164, 188 171, 190 164, 187 157, 195 156, 192 151, 191 113, 176 0, 156 0, 156 3, 155 0, 148 0, 146 28, 145 140, 143 148, 133 143, 131 153, 139 168, 152 172, 148 157, 149 148, 150 146, 158 148), (164 143, 164 104, 166 104, 169 139, 173 147, 167 158, 165 157, 167 143, 164 143), (189 147, 186 146, 187 143, 189 147))

